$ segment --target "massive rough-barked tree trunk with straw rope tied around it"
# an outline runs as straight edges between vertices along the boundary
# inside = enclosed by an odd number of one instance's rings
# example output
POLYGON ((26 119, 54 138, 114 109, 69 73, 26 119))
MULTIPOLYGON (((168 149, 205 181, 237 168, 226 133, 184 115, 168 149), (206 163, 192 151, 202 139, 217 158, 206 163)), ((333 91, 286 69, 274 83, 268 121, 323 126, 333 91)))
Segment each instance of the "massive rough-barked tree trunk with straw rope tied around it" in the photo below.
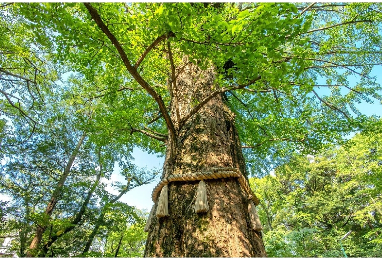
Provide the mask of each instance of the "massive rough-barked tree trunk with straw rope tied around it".
MULTIPOLYGON (((173 122, 178 121, 177 103, 182 118, 195 100, 200 102, 215 90, 213 81, 212 69, 201 71, 187 65, 170 91, 173 122)), ((162 177, 214 167, 235 167, 247 176, 234 114, 225 102, 224 94, 216 96, 188 120, 176 140, 169 138, 162 177)), ((193 212, 198 182, 168 184, 169 216, 158 219, 153 215, 144 256, 266 257, 261 233, 252 229, 249 201, 237 178, 205 181, 210 207, 206 213, 193 212)), ((158 200, 154 210, 157 204, 158 200)))

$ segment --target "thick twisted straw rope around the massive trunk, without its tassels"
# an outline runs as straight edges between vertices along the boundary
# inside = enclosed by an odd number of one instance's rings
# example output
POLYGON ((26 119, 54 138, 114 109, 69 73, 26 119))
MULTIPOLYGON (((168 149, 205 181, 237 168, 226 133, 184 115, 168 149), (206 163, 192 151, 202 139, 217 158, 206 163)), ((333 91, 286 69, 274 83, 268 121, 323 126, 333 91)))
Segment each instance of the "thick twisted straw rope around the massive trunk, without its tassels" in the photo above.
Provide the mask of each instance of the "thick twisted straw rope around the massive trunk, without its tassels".
POLYGON ((240 173, 236 168, 213 168, 211 172, 195 172, 195 173, 186 173, 186 174, 171 174, 167 178, 163 178, 153 189, 152 191, 152 201, 155 203, 157 200, 158 194, 162 188, 167 185, 169 182, 185 182, 185 181, 202 181, 202 180, 211 180, 211 179, 222 179, 222 178, 238 178, 241 188, 248 195, 248 199, 252 200, 255 206, 259 205, 260 201, 253 193, 251 188, 248 185, 245 177, 240 173))

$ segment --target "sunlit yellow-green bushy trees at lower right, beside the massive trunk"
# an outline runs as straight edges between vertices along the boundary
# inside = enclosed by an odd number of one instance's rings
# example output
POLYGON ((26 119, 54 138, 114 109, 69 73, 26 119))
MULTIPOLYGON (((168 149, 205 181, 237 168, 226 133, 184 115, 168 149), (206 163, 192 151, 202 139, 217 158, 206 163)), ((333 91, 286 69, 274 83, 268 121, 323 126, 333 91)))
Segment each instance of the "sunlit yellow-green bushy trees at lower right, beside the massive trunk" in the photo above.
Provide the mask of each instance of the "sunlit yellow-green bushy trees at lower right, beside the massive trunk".
POLYGON ((251 179, 269 257, 379 257, 382 135, 362 132, 316 156, 295 154, 251 179))

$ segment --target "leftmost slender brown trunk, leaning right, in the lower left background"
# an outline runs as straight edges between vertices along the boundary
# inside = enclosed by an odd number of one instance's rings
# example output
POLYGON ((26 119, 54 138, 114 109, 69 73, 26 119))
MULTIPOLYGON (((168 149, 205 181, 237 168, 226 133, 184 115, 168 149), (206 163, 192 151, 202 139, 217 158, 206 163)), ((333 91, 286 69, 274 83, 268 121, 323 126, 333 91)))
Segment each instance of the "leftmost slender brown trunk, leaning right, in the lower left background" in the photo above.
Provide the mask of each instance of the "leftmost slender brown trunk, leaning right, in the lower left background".
MULTIPOLYGON (((55 190, 53 191, 53 194, 49 200, 48 206, 45 209, 45 214, 48 215, 49 217, 51 216, 53 209, 56 206, 56 203, 61 196, 62 188, 64 187, 65 181, 68 178, 69 172, 72 168, 74 159, 77 156, 78 151, 79 151, 84 139, 85 139, 85 134, 83 134, 81 136, 80 140, 78 141, 77 146, 75 147, 74 151, 72 152, 72 156, 70 157, 68 164, 66 165, 66 167, 64 169, 64 173, 62 174, 60 180, 57 183, 55 190)), ((26 254, 26 257, 34 257, 35 256, 36 249, 37 249, 38 245, 40 244, 41 239, 43 238, 43 234, 44 234, 46 229, 47 229, 47 225, 37 227, 36 234, 33 237, 32 242, 30 243, 29 250, 28 250, 28 253, 26 254)))

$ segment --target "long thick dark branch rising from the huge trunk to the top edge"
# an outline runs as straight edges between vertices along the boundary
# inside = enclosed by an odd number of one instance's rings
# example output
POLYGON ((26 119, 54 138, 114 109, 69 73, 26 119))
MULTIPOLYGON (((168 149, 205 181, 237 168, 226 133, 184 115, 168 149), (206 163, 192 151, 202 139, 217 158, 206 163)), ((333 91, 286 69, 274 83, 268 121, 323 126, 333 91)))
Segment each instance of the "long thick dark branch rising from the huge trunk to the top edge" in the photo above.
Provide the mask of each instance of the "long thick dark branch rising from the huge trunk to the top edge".
POLYGON ((162 99, 162 96, 160 96, 137 72, 137 70, 131 66, 130 60, 128 59, 126 52, 123 50, 122 46, 120 45, 117 38, 111 33, 109 28, 103 23, 101 17, 99 16, 97 10, 90 4, 90 3, 84 3, 85 7, 88 9, 90 15, 92 16, 93 20, 97 24, 97 26, 102 30, 102 32, 110 39, 110 41, 113 43, 113 45, 116 47, 117 51, 119 52, 119 55, 127 69, 127 71, 133 76, 135 80, 153 97, 153 99, 156 101, 156 103, 159 105, 159 109, 161 110, 163 117, 165 119, 165 122, 167 124, 168 130, 170 131, 171 136, 175 139, 175 136, 177 134, 175 127, 171 121, 171 118, 168 114, 168 111, 166 109, 166 105, 162 99))

